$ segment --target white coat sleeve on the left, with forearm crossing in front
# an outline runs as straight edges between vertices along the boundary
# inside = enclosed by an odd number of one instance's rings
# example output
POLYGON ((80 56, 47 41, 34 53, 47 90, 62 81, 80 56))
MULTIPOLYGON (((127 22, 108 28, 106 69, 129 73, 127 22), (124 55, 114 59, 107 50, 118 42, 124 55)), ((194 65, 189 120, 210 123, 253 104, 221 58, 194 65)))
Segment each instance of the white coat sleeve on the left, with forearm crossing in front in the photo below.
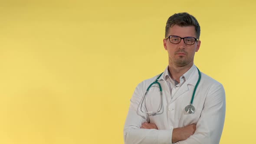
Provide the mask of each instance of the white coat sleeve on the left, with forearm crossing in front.
MULTIPOLYGON (((171 144, 172 130, 143 129, 141 125, 148 122, 148 114, 140 109, 144 96, 143 83, 140 83, 131 98, 128 116, 125 121, 125 144, 171 144)), ((145 107, 142 107, 145 110, 145 107)))

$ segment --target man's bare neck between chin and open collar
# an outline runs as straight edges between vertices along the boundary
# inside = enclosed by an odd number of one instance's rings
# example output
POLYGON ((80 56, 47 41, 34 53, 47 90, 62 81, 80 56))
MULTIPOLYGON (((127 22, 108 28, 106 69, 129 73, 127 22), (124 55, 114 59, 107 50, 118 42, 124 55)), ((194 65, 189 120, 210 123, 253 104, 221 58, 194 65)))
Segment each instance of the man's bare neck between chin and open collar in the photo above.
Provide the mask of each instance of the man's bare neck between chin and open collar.
POLYGON ((168 69, 171 73, 171 78, 180 82, 180 77, 184 75, 191 67, 193 66, 193 62, 191 64, 185 66, 177 66, 173 64, 169 64, 168 69))

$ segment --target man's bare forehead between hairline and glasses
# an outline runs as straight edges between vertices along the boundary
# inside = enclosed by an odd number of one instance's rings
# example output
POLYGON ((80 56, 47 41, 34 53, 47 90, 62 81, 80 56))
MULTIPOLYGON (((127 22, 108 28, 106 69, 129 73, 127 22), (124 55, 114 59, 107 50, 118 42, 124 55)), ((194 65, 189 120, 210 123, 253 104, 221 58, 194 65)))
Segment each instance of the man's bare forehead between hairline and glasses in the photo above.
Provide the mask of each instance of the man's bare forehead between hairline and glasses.
POLYGON ((195 26, 174 25, 174 26, 171 26, 168 30, 168 36, 170 35, 181 36, 181 37, 186 37, 186 36, 196 37, 196 29, 195 29, 195 26))

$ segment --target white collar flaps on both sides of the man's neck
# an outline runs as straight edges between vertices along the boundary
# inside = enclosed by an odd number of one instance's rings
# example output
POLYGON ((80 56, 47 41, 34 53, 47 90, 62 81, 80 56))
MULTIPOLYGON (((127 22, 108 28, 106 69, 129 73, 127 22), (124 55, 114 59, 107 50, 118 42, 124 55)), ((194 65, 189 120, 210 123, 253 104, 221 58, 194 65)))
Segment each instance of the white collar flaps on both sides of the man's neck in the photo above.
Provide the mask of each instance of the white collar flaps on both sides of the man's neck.
MULTIPOLYGON (((194 80, 195 76, 191 77, 192 75, 194 75, 195 72, 197 72, 197 67, 196 67, 196 65, 193 64, 192 67, 187 72, 185 72, 183 75, 181 75, 180 82, 187 81, 188 84, 191 84, 191 85, 195 86, 196 83, 197 83, 197 81, 194 80), (190 79, 190 77, 191 77, 191 79, 190 79)), ((170 79, 171 82, 174 82, 174 80, 171 79, 171 75, 169 74, 168 66, 164 70, 164 72, 161 75, 161 77, 159 78, 159 80, 166 81, 167 79, 170 79)))

